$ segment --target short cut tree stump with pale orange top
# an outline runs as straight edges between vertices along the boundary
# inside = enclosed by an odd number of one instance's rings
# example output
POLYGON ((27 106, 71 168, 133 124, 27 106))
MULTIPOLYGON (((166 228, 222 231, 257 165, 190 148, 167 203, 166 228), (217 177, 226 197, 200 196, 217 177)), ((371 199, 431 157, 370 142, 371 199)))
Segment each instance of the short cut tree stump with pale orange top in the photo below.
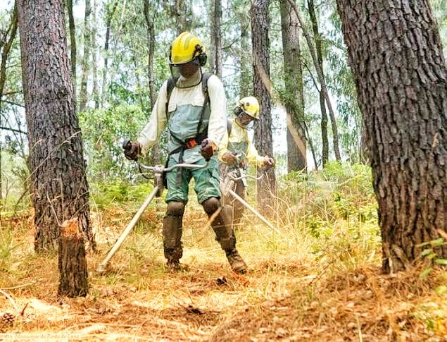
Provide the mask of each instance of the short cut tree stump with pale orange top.
POLYGON ((77 217, 64 221, 59 239, 58 295, 71 298, 87 295, 88 274, 84 238, 77 217))

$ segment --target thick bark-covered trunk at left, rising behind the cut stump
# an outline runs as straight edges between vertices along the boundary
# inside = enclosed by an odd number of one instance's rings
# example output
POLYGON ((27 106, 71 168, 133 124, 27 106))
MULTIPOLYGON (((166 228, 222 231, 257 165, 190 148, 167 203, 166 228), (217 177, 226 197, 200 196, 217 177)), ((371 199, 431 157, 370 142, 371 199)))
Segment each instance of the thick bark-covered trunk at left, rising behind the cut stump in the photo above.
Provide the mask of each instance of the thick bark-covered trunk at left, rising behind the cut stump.
POLYGON ((89 189, 75 113, 62 0, 18 1, 35 249, 58 246, 59 225, 77 217, 94 248, 89 189))

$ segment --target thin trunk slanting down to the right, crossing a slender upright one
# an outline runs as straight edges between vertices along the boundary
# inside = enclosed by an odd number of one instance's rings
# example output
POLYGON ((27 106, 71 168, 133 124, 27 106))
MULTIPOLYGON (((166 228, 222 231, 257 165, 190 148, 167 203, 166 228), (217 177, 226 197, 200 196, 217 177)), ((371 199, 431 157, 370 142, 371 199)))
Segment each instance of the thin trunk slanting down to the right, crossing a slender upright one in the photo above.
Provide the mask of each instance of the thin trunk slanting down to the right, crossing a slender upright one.
POLYGON ((303 18, 301 18, 301 14, 299 13, 298 8, 296 8, 296 4, 293 2, 293 0, 288 1, 296 13, 296 17, 298 18, 298 21, 300 23, 301 30, 303 30, 303 35, 306 38, 306 42, 308 43, 310 56, 312 56, 312 61, 318 75, 318 81, 320 82, 321 85, 321 92, 325 96, 327 109, 329 109, 329 118, 331 118, 331 124, 332 124, 332 140, 334 142, 335 159, 341 161, 340 148, 339 148, 339 133, 336 127, 334 109, 332 108, 331 99, 329 99, 329 92, 327 92, 325 75, 323 74, 323 71, 320 68, 320 64, 318 63, 317 54, 315 52, 315 47, 313 46, 312 38, 310 37, 308 30, 306 30, 306 23, 304 23, 303 18))

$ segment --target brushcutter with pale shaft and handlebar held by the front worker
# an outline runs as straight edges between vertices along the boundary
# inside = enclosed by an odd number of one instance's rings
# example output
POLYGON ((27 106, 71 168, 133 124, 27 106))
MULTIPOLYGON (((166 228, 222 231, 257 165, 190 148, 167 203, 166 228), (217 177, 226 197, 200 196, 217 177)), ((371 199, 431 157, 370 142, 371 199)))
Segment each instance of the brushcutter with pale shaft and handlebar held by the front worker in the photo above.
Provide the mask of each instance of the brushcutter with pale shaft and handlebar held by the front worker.
POLYGON ((112 246, 111 250, 108 251, 107 256, 101 264, 96 267, 96 271, 99 273, 103 273, 107 269, 107 264, 115 255, 116 252, 120 249, 122 243, 124 242, 125 238, 129 235, 130 231, 134 228, 134 226, 137 224, 139 218, 141 217, 141 214, 143 214, 144 210, 148 207, 149 203, 152 202, 154 197, 160 197, 164 190, 163 185, 163 174, 169 171, 172 171, 173 169, 204 169, 206 166, 208 166, 208 162, 203 165, 196 165, 196 164, 175 164, 170 167, 165 167, 163 165, 156 165, 156 166, 147 166, 144 164, 141 164, 137 161, 139 170, 141 174, 148 179, 151 179, 144 175, 144 172, 142 169, 146 171, 153 172, 153 179, 154 179, 154 187, 152 192, 149 194, 149 196, 146 198, 146 200, 141 204, 141 207, 138 209, 137 214, 134 215, 132 220, 127 224, 124 231, 122 231, 120 237, 118 240, 116 240, 115 244, 112 246))

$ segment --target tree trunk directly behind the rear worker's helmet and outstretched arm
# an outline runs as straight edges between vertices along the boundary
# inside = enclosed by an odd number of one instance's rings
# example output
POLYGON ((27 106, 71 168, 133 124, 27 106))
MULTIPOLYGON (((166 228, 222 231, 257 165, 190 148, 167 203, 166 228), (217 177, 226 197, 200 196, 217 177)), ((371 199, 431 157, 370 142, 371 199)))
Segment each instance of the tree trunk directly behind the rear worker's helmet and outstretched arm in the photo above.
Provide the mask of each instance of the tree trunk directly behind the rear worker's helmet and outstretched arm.
MULTIPOLYGON (((260 117, 255 126, 255 146, 261 155, 272 155, 272 114, 270 109, 270 41, 268 38, 269 0, 254 0, 251 6, 253 46, 253 95, 260 102, 260 117)), ((270 212, 276 193, 275 170, 258 181, 257 200, 263 212, 270 212)))

